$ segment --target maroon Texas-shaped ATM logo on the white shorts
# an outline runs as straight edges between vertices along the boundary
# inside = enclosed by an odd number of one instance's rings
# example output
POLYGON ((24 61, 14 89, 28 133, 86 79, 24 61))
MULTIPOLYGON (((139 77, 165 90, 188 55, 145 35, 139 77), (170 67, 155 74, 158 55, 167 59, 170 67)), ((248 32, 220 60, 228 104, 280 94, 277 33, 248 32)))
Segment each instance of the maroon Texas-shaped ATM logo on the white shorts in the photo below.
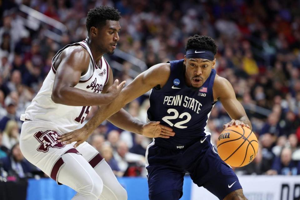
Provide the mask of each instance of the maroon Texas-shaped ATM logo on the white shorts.
POLYGON ((58 132, 53 130, 39 131, 35 133, 34 137, 37 138, 39 143, 41 143, 41 145, 37 148, 37 151, 47 152, 50 147, 59 149, 63 148, 65 145, 56 142, 58 136, 58 132))

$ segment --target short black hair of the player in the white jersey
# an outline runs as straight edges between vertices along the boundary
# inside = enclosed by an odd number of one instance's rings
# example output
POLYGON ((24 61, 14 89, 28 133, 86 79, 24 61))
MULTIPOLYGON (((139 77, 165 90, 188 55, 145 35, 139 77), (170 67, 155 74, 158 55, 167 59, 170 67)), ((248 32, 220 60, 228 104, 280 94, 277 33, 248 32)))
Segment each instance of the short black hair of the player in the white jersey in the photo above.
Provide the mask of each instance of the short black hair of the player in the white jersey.
POLYGON ((88 16, 85 22, 88 33, 91 27, 100 28, 106 25, 106 20, 119 21, 121 18, 120 12, 107 6, 99 6, 88 11, 88 16))

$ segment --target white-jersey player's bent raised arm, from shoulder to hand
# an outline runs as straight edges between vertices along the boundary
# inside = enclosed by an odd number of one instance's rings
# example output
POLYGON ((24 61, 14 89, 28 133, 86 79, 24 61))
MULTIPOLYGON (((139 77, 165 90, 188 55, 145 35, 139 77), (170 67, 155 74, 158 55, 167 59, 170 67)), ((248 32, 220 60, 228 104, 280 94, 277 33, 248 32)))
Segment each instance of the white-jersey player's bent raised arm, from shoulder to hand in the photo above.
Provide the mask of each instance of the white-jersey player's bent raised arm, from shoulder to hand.
POLYGON ((87 72, 89 62, 90 55, 81 46, 68 47, 59 55, 54 63, 54 68, 57 69, 51 95, 54 103, 68 106, 106 105, 118 96, 124 85, 124 83, 118 85, 118 80, 113 83, 110 93, 107 94, 74 88, 82 74, 87 72))

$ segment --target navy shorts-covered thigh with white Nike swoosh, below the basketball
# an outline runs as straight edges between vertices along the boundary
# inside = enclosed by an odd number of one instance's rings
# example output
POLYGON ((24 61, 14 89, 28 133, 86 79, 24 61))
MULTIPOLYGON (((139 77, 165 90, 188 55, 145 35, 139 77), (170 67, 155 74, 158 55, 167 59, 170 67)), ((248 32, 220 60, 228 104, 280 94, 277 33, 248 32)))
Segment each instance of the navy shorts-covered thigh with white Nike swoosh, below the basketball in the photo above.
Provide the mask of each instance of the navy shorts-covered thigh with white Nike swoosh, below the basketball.
POLYGON ((195 163, 191 178, 199 187, 203 186, 219 199, 242 189, 232 168, 221 160, 214 148, 208 148, 205 157, 195 163))

